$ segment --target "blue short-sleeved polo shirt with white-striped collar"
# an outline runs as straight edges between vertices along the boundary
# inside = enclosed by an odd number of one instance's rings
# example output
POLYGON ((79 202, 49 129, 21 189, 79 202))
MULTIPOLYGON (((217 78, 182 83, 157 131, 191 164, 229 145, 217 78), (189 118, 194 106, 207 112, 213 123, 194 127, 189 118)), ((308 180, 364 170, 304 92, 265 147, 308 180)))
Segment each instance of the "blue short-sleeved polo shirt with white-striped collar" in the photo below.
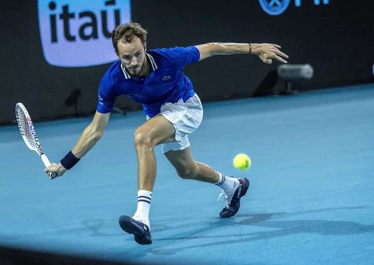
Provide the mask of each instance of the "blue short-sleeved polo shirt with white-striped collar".
POLYGON ((109 66, 99 86, 98 112, 112 112, 116 98, 127 95, 143 104, 145 114, 153 117, 165 102, 186 101, 195 94, 183 68, 199 61, 196 47, 148 50, 146 56, 153 70, 147 78, 131 77, 120 60, 109 66))

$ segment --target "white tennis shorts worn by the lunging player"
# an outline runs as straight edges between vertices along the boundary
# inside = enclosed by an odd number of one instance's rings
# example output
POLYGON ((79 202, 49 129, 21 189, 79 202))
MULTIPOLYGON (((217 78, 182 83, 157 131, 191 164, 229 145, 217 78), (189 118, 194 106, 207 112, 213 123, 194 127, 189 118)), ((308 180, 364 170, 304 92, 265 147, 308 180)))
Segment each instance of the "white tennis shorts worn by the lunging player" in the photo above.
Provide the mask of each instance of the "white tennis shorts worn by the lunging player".
MULTIPOLYGON (((162 115, 169 120, 176 130, 175 141, 161 144, 161 151, 166 153, 170 150, 183 150, 189 147, 187 135, 195 131, 203 120, 203 106, 195 93, 186 102, 179 99, 175 103, 164 103, 158 115, 162 115)), ((149 116, 147 116, 148 119, 150 119, 149 116)))

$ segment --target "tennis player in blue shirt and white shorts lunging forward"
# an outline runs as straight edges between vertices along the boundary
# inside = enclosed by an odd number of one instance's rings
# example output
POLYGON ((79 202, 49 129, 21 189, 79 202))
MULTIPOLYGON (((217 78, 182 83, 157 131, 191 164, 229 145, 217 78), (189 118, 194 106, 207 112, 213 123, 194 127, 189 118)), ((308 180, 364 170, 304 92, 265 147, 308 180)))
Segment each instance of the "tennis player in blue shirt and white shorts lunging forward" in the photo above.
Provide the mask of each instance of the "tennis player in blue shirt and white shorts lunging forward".
POLYGON ((268 64, 272 59, 287 63, 282 57, 288 58, 279 50, 280 46, 267 43, 206 43, 147 51, 146 41, 147 32, 137 23, 114 29, 112 42, 119 60, 102 77, 95 116, 60 163, 44 169, 60 177, 72 168, 102 137, 116 97, 127 95, 142 103, 147 121, 134 134, 138 162, 137 209, 132 217, 119 217, 120 227, 134 234, 135 241, 142 245, 152 243, 149 210, 156 178, 153 152, 156 145, 161 145, 179 177, 213 183, 222 189, 226 200, 220 213, 222 218, 238 212, 240 199, 249 187, 247 179, 227 177, 192 158, 188 134, 199 127, 203 107, 191 81, 183 73, 184 66, 214 55, 236 53, 256 54, 268 64))

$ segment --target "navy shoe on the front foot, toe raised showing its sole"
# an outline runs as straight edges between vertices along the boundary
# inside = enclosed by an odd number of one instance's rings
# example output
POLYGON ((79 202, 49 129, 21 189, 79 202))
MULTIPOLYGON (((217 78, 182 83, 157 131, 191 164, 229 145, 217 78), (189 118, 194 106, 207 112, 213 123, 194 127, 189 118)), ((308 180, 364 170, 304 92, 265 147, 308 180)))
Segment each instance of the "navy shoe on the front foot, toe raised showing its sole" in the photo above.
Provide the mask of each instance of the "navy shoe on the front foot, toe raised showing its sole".
POLYGON ((126 215, 119 216, 118 222, 123 231, 134 234, 136 243, 140 245, 152 244, 151 232, 147 225, 126 215))

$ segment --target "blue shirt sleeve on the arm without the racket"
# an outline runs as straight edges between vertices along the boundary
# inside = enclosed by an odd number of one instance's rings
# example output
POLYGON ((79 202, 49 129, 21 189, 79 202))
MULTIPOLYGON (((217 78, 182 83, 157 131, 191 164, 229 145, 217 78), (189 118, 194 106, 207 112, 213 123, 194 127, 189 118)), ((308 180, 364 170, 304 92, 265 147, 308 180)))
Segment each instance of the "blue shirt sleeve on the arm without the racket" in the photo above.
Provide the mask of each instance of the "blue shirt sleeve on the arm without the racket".
POLYGON ((165 49, 170 62, 179 68, 195 63, 200 59, 200 52, 195 46, 165 49))

